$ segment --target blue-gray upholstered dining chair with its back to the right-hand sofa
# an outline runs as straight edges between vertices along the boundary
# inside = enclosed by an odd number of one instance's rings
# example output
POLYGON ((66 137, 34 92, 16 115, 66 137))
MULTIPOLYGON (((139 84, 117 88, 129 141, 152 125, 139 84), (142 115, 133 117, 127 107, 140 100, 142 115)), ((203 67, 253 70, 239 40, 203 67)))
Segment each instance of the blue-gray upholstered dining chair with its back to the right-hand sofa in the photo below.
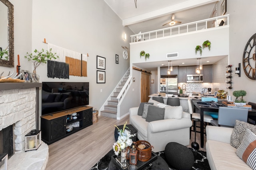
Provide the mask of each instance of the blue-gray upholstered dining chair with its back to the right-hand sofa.
POLYGON ((234 127, 236 120, 247 122, 248 109, 237 107, 219 107, 218 120, 212 120, 214 126, 234 127))

